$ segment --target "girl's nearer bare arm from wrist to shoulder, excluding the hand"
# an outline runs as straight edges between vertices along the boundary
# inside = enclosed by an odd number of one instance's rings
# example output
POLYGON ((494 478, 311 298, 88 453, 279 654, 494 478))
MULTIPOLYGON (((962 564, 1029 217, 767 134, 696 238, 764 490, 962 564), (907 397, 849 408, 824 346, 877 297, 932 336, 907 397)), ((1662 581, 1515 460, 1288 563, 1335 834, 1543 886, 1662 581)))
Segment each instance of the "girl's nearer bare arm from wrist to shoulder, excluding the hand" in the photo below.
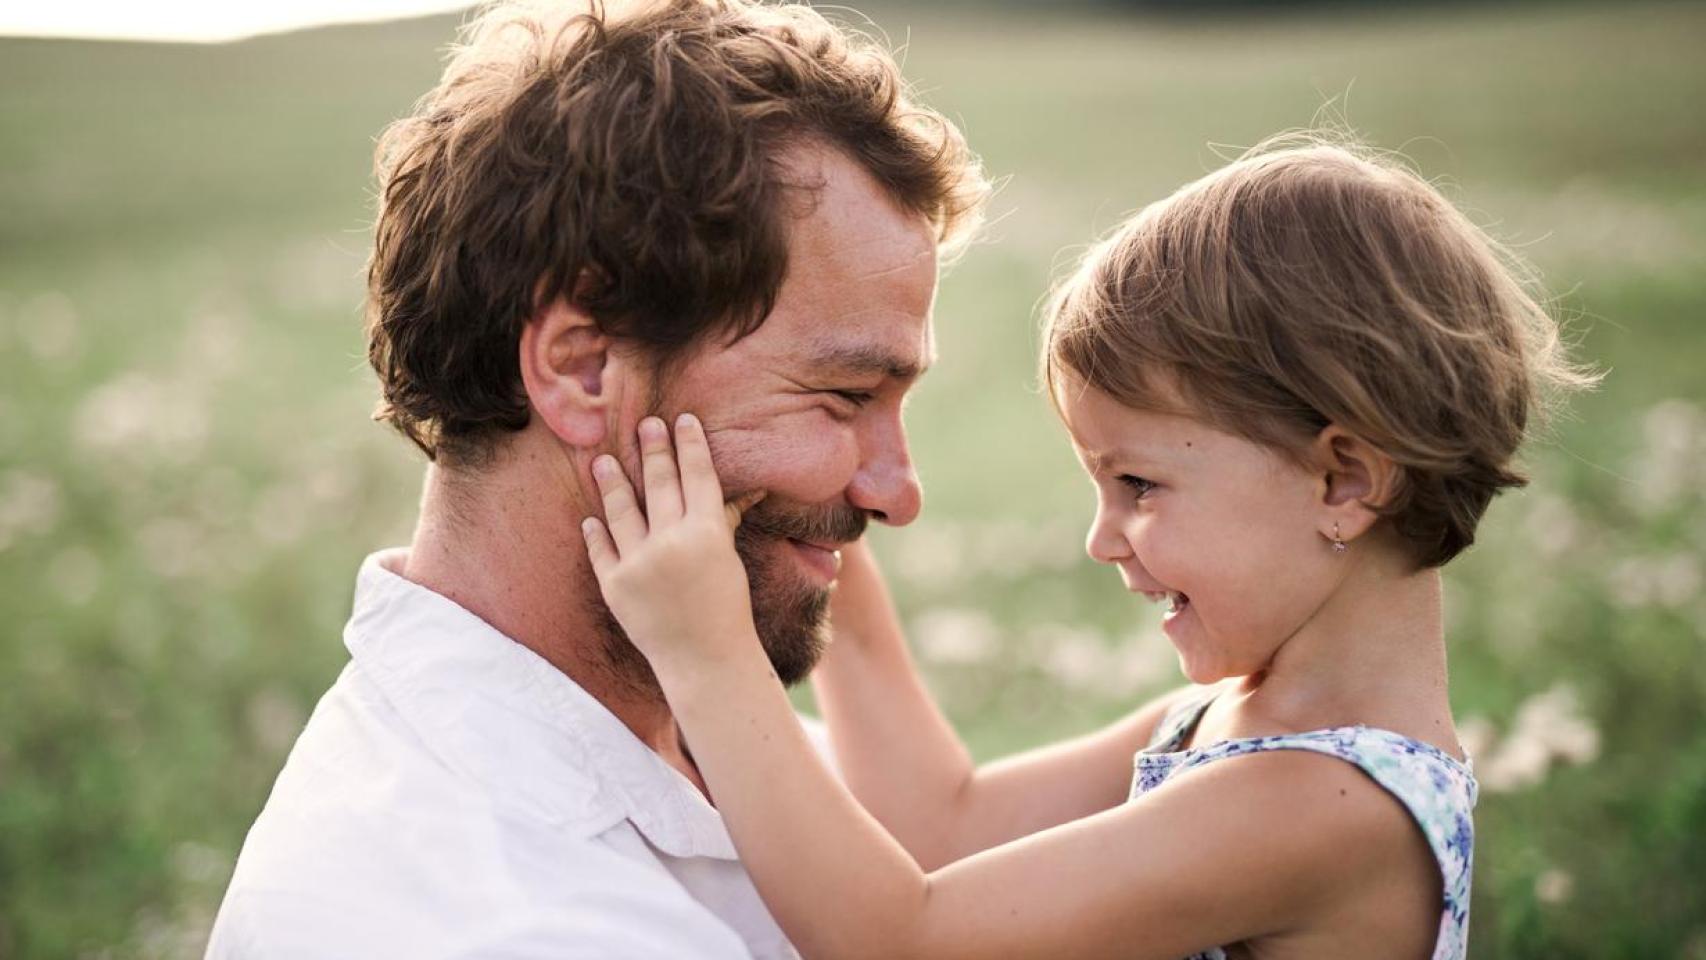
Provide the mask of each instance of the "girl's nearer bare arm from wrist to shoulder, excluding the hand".
POLYGON ((742 648, 679 656, 659 679, 742 863, 805 957, 1177 960, 1307 938, 1413 853, 1394 841, 1414 827, 1349 764, 1259 754, 925 871, 814 760, 756 638, 742 648))

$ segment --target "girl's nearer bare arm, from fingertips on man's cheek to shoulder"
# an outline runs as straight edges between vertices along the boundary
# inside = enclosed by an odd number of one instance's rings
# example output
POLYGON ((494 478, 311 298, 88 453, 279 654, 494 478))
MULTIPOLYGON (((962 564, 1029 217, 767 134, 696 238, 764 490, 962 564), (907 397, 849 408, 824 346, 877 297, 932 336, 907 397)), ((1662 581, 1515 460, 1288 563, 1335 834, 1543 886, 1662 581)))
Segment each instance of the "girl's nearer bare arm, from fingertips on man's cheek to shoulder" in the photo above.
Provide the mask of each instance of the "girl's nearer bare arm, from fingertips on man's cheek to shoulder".
POLYGON ((925 873, 817 762, 754 634, 698 421, 682 418, 677 443, 679 477, 662 423, 641 425, 648 515, 614 459, 594 464, 607 527, 589 520, 587 547, 742 861, 805 955, 1172 960, 1307 936, 1413 858, 1414 825, 1355 767, 1276 752, 925 873))

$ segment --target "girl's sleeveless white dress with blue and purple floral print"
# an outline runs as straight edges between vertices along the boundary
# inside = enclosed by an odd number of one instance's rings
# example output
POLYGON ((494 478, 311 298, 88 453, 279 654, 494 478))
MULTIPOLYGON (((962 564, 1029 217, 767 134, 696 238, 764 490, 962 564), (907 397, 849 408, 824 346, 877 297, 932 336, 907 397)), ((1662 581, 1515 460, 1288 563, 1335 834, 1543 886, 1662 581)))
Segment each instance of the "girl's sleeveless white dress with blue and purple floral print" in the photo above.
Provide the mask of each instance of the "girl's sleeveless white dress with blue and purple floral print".
MULTIPOLYGON (((1469 766, 1419 740, 1361 725, 1221 740, 1186 750, 1184 743, 1213 699, 1213 692, 1187 697, 1162 718, 1150 745, 1134 757, 1131 796, 1138 798, 1191 767, 1262 750, 1310 750, 1356 764, 1409 810, 1428 837, 1445 880, 1445 909, 1440 912, 1433 960, 1462 960, 1469 950, 1469 880, 1476 839, 1471 822, 1476 778, 1469 766)), ((1227 953, 1211 948, 1186 960, 1227 960, 1227 953)))

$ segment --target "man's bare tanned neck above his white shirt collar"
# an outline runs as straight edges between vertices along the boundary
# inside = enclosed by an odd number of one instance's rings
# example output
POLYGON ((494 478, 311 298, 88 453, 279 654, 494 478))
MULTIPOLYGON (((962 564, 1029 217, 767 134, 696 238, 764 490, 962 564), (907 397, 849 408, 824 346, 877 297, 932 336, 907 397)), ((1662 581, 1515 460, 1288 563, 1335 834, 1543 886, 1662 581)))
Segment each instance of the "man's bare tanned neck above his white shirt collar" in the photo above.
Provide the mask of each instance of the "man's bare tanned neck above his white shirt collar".
POLYGON ((541 494, 537 476, 527 483, 519 472, 498 466, 469 479, 430 467, 401 575, 561 670, 703 793, 657 684, 606 651, 580 537, 583 513, 565 496, 541 494))

